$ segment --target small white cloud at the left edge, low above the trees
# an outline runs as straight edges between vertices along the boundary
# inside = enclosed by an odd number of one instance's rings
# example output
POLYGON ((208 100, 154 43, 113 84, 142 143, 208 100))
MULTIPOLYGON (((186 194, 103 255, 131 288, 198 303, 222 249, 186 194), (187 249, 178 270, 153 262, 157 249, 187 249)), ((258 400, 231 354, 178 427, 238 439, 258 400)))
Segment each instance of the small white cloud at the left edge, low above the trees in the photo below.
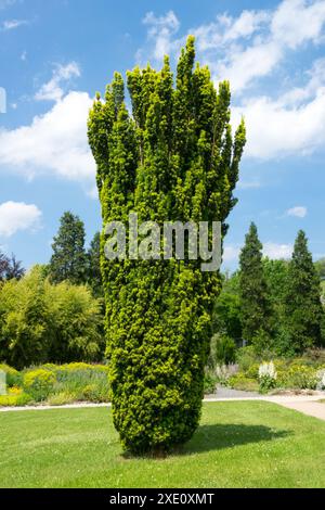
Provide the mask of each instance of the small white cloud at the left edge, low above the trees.
POLYGON ((20 230, 35 230, 39 227, 40 209, 24 202, 0 204, 0 235, 10 238, 20 230))

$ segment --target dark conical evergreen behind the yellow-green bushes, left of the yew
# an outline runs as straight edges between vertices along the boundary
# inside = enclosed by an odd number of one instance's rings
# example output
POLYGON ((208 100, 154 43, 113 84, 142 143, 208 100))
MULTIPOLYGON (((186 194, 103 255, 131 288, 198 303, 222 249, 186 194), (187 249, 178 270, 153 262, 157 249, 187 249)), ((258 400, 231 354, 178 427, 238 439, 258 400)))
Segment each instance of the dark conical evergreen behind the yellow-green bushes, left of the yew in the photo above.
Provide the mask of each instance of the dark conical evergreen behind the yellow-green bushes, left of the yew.
POLYGON ((87 255, 84 251, 84 225, 70 212, 64 213, 60 229, 52 244, 50 278, 60 283, 84 283, 87 279, 87 255))

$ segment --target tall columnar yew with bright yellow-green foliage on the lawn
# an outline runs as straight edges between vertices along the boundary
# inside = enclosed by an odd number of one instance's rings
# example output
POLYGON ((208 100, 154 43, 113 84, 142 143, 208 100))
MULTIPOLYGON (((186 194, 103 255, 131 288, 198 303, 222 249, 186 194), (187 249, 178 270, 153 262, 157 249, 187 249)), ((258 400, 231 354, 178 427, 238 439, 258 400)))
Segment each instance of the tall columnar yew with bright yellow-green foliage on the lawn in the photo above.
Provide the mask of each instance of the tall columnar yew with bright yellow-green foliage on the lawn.
MULTIPOLYGON (((155 220, 225 219, 235 204, 244 123, 233 140, 230 86, 213 87, 207 67, 194 68, 194 38, 178 63, 176 87, 169 60, 128 73, 132 116, 121 75, 89 118, 98 165, 104 226, 155 220)), ((200 260, 107 260, 101 268, 106 301, 106 354, 113 415, 125 448, 168 448, 188 439, 202 407, 210 316, 220 292, 218 272, 200 260)))

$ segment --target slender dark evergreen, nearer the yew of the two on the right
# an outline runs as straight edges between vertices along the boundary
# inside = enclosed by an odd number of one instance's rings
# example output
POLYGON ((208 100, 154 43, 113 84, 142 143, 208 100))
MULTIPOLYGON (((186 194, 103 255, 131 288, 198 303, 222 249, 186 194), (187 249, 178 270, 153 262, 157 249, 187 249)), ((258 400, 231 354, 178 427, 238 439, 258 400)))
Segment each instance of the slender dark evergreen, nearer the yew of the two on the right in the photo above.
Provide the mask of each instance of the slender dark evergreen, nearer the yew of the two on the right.
POLYGON ((262 264, 262 244, 250 225, 239 257, 239 295, 243 339, 258 352, 271 347, 272 306, 262 264))

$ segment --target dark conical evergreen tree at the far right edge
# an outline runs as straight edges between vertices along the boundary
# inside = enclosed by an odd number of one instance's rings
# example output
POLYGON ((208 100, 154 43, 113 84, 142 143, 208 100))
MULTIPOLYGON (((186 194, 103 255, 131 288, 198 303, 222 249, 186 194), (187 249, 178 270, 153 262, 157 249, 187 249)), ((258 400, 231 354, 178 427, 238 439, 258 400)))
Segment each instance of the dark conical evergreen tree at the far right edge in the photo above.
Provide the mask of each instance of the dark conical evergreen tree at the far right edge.
POLYGON ((285 316, 290 343, 296 353, 320 346, 323 308, 320 277, 308 250, 306 233, 298 232, 289 264, 285 316))

